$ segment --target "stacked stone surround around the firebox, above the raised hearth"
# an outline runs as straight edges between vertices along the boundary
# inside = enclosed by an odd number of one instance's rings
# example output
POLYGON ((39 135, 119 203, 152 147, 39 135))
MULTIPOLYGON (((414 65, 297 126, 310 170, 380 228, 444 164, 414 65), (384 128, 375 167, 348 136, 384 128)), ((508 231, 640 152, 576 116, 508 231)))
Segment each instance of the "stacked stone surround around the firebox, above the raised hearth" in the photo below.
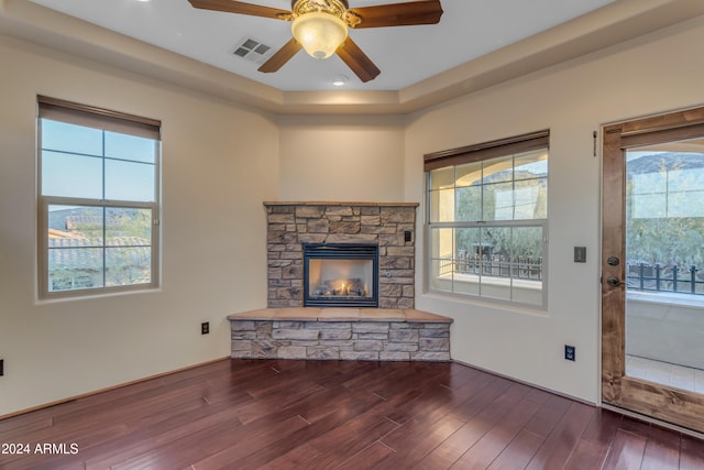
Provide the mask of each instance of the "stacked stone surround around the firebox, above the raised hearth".
POLYGON ((380 308, 414 308, 418 204, 264 203, 270 307, 301 307, 302 243, 375 243, 380 308), (410 241, 405 241, 405 232, 410 241))

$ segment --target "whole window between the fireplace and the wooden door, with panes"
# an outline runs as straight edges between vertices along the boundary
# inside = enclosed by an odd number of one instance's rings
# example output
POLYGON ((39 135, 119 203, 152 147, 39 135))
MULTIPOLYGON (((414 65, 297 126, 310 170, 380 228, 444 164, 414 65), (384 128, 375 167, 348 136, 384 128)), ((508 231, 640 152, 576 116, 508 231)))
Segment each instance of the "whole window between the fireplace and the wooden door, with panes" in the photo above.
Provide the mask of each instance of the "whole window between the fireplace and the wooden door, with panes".
POLYGON ((544 307, 549 132, 425 156, 427 288, 544 307))

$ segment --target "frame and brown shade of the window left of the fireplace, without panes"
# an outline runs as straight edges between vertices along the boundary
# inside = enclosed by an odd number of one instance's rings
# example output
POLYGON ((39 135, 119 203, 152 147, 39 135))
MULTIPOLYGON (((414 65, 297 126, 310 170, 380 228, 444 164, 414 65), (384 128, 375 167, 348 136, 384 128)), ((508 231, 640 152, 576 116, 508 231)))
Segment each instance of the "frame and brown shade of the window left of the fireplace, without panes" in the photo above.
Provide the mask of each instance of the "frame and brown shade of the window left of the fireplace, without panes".
MULTIPOLYGON (((88 296, 99 296, 116 293, 129 293, 139 291, 153 291, 161 285, 161 172, 162 172, 162 141, 161 121, 80 105, 56 98, 37 96, 36 113, 36 198, 37 198, 37 297, 40 299, 63 299, 79 298, 88 296), (42 120, 64 122, 74 125, 110 131, 120 134, 148 138, 155 141, 154 150, 154 200, 121 200, 121 199, 97 199, 81 197, 45 196, 43 192, 42 165, 43 165, 43 138, 42 120), (51 291, 50 285, 50 206, 79 206, 95 207, 109 210, 120 209, 148 209, 151 210, 151 238, 150 238, 150 282, 119 286, 82 287, 74 289, 51 291)), ((98 157, 98 156, 96 156, 98 157)), ((106 155, 100 155, 105 161, 106 155)), ((105 179, 105 170, 102 177, 105 179)), ((102 230, 106 229, 103 219, 102 230)), ((100 247, 106 249, 106 238, 100 247)), ((146 247, 146 245, 145 245, 146 247)), ((105 255, 105 254, 103 254, 105 255)), ((102 266, 105 278, 107 266, 102 266)))

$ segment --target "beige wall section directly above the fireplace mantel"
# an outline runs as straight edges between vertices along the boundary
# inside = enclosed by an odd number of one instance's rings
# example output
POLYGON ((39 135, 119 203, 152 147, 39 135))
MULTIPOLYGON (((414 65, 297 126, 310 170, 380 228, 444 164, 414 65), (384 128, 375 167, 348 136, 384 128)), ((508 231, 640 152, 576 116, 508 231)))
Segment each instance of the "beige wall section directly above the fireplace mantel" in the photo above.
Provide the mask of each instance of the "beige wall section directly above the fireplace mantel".
POLYGON ((403 201, 399 118, 288 117, 279 123, 280 200, 403 201))

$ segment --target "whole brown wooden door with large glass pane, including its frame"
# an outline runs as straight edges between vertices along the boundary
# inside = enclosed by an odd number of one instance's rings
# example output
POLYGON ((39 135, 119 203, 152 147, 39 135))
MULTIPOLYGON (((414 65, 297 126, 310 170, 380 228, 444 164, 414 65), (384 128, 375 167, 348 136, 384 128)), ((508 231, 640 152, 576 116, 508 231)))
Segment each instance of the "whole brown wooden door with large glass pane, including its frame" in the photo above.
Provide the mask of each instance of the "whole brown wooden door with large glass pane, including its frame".
POLYGON ((704 431, 704 108, 603 129, 602 401, 704 431))

